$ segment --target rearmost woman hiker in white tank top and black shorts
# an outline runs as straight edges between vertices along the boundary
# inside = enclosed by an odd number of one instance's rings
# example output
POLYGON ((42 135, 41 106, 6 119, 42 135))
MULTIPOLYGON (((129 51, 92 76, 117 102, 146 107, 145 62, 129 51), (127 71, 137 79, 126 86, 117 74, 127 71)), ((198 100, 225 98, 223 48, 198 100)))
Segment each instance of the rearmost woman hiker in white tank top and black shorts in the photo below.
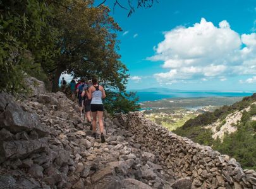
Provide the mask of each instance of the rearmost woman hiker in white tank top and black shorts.
POLYGON ((104 88, 98 84, 97 79, 92 79, 92 86, 88 89, 88 99, 92 100, 90 103, 90 108, 92 111, 92 130, 93 136, 96 139, 96 120, 98 117, 100 132, 101 132, 101 142, 106 142, 104 137, 104 124, 103 124, 103 112, 104 106, 102 103, 102 98, 106 98, 104 88))

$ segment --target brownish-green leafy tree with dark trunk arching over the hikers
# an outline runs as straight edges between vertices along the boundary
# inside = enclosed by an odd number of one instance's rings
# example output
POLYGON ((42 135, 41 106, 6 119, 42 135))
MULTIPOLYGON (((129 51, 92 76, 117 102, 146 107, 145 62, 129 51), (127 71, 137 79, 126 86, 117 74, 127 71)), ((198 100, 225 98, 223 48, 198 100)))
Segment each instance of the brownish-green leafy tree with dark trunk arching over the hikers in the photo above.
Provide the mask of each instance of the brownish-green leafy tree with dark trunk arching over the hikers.
POLYGON ((52 72, 52 91, 57 91, 62 72, 76 77, 98 76, 106 86, 122 89, 127 81, 126 66, 116 53, 116 31, 121 28, 109 16, 109 8, 93 7, 93 1, 66 1, 59 7, 56 27, 60 54, 52 72))

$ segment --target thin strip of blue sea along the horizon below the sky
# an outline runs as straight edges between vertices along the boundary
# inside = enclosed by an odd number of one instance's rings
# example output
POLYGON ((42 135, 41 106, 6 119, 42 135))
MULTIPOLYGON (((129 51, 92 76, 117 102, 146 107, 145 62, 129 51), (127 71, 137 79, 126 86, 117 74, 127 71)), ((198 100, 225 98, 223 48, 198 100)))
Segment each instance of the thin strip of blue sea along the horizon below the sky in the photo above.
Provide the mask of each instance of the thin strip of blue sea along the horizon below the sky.
POLYGON ((175 91, 169 94, 161 94, 156 92, 138 91, 137 96, 139 102, 162 100, 164 98, 192 98, 192 97, 209 97, 209 96, 251 96, 253 92, 217 92, 217 91, 175 91))

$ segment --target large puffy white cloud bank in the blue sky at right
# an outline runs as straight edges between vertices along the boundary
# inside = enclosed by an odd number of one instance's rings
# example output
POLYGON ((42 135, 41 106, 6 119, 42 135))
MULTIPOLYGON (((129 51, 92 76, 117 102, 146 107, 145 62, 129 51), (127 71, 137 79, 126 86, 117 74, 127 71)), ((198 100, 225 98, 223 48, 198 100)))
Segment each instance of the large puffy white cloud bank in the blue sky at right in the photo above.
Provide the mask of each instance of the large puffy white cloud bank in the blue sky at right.
POLYGON ((154 76, 160 83, 256 74, 256 33, 239 35, 228 21, 219 26, 204 18, 188 28, 178 26, 164 32, 164 40, 147 59, 163 61, 167 72, 154 76))

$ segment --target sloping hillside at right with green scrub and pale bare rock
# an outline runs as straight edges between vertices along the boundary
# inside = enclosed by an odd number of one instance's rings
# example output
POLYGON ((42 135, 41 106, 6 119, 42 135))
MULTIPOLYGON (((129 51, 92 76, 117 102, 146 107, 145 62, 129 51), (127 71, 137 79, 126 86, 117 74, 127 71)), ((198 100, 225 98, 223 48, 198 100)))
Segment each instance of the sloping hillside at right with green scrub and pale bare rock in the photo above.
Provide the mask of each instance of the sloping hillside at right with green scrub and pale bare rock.
POLYGON ((256 94, 188 120, 174 132, 235 157, 256 170, 256 94))

